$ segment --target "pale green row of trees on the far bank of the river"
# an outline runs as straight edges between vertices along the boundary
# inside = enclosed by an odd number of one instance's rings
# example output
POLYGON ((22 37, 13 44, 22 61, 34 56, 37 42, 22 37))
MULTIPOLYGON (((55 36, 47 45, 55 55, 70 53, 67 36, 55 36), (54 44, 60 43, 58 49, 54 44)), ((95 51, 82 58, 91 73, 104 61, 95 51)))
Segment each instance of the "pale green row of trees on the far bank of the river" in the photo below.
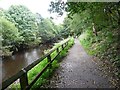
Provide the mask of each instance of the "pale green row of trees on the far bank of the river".
POLYGON ((62 25, 56 25, 39 13, 32 13, 23 5, 12 5, 8 10, 0 9, 0 40, 3 55, 41 43, 52 43, 61 39, 62 25))

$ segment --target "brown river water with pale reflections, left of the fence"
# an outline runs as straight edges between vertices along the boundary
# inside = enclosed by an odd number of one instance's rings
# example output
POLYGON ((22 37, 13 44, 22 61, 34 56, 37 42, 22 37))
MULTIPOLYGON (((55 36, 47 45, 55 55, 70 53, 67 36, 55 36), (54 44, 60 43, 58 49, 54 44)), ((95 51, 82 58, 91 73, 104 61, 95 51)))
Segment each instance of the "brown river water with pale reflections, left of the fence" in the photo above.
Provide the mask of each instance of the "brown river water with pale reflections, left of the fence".
POLYGON ((2 76, 0 75, 0 77, 2 77, 2 81, 15 75, 22 68, 39 59, 44 55, 44 50, 50 47, 51 45, 41 45, 36 48, 17 52, 15 55, 12 55, 10 57, 0 57, 0 72, 2 72, 2 76))

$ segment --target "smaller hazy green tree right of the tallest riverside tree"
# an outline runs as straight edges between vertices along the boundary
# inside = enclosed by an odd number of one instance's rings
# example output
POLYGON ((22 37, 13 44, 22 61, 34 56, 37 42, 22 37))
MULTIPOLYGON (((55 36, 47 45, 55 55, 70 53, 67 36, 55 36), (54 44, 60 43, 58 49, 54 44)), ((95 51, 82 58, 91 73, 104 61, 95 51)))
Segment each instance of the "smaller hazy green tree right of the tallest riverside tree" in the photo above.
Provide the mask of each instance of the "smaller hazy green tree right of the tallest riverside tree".
POLYGON ((39 35, 42 42, 53 40, 59 33, 58 27, 52 22, 51 19, 42 19, 38 23, 39 35))

